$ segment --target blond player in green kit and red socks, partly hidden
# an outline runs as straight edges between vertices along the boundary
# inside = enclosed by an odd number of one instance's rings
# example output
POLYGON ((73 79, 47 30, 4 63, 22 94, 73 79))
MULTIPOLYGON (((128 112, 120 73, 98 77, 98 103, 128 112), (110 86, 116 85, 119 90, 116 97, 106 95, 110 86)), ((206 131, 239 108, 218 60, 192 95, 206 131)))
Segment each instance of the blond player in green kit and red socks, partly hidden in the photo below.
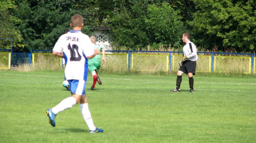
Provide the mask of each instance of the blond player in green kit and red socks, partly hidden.
MULTIPOLYGON (((105 63, 105 49, 104 49, 104 47, 95 44, 96 43, 96 38, 94 36, 91 36, 90 39, 91 39, 91 41, 94 45, 94 48, 95 49, 97 48, 97 49, 99 49, 100 52, 102 52, 102 62, 105 63)), ((92 73, 92 76, 93 76, 93 85, 91 87, 91 90, 94 90, 95 84, 96 84, 97 81, 98 81, 99 85, 101 85, 101 81, 100 81, 99 76, 98 76, 98 70, 100 68, 100 65, 101 65, 100 55, 97 55, 94 58, 88 60, 89 70, 90 70, 90 72, 92 73)))

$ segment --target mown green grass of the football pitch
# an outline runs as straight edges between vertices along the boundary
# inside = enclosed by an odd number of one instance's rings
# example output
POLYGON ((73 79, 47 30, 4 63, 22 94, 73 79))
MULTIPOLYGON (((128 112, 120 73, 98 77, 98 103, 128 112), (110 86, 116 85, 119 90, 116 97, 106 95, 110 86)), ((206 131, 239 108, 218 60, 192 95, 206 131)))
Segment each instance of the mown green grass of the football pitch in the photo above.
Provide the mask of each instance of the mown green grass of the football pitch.
POLYGON ((0 71, 0 142, 255 142, 256 78, 196 75, 189 92, 183 75, 102 74, 86 92, 94 124, 90 134, 79 105, 58 113, 56 127, 45 115, 70 96, 63 71, 0 71))

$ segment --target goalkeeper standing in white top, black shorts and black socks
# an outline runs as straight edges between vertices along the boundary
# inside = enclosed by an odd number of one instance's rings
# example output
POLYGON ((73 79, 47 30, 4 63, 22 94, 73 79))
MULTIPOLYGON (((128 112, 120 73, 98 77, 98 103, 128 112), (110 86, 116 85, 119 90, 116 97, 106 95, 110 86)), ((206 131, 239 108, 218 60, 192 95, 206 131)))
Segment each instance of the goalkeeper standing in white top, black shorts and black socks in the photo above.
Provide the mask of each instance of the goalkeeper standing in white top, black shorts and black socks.
POLYGON ((188 33, 184 33, 182 35, 182 40, 186 44, 183 47, 183 58, 181 60, 180 68, 177 72, 177 81, 176 88, 170 90, 171 92, 180 91, 180 84, 182 81, 182 74, 185 73, 188 75, 188 82, 190 87, 190 92, 194 92, 194 79, 193 75, 196 74, 196 66, 197 66, 197 49, 193 42, 190 40, 190 35, 188 33))

